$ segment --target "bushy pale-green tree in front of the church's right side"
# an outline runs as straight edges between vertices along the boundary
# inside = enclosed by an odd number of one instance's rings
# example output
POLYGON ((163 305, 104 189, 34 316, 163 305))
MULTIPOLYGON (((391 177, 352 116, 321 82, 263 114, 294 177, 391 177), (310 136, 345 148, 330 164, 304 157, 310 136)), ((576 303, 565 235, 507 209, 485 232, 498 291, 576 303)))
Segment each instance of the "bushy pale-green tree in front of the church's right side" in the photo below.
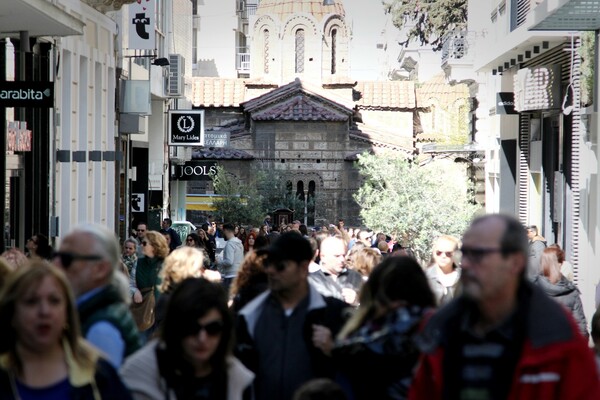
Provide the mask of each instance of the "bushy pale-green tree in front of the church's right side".
POLYGON ((355 200, 365 225, 395 236, 422 261, 437 236, 462 236, 479 209, 464 167, 453 161, 419 166, 397 154, 365 153, 358 168, 364 182, 355 200))

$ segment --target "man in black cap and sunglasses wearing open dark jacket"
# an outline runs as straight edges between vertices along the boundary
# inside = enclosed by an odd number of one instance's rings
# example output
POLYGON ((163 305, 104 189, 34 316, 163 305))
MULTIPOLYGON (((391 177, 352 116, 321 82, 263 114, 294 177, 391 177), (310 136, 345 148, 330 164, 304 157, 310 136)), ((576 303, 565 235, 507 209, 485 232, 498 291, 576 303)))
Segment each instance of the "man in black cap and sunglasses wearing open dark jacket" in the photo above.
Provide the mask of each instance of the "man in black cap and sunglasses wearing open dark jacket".
POLYGON ((269 290, 240 310, 235 352, 256 374, 257 400, 291 399, 306 381, 332 377, 321 346, 325 330, 339 332, 346 305, 308 283, 313 251, 299 232, 281 234, 257 254, 266 256, 269 290))

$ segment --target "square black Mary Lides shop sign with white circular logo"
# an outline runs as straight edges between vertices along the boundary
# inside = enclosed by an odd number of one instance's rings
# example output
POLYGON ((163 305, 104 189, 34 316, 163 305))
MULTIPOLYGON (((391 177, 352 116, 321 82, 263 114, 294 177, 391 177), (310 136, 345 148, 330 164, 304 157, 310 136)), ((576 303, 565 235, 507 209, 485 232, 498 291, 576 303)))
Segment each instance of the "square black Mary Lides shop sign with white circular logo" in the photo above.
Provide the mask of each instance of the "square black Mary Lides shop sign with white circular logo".
POLYGON ((204 110, 169 111, 169 145, 204 145, 204 110))

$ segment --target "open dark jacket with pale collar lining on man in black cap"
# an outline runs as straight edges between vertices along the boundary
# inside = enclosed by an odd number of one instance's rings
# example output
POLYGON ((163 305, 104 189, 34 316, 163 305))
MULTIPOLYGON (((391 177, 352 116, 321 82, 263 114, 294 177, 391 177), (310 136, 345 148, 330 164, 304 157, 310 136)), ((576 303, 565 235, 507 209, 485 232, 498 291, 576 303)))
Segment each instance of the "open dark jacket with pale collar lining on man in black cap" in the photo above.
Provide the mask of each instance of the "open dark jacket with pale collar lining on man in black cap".
MULTIPOLYGON (((309 285, 310 287, 310 285, 309 285)), ((235 356, 251 371, 258 371, 258 354, 254 344, 254 328, 271 295, 270 291, 259 295, 238 313, 236 319, 235 356)), ((321 296, 310 287, 310 302, 304 322, 302 336, 309 349, 312 370, 317 377, 333 377, 334 369, 330 357, 316 348, 312 342, 313 324, 328 327, 335 337, 344 324, 344 310, 348 305, 343 301, 321 296)), ((274 344, 277 345, 276 343, 274 344)), ((293 362, 293 361, 289 361, 293 362)))

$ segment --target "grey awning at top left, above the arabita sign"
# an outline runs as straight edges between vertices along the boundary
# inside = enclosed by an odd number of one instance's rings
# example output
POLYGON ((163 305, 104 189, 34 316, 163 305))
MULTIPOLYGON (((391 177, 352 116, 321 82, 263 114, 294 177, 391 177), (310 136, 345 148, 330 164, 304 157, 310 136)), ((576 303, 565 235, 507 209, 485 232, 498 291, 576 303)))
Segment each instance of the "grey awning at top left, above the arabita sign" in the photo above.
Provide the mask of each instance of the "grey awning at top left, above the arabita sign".
POLYGON ((85 24, 48 0, 0 1, 0 36, 30 37, 82 35, 85 24))

